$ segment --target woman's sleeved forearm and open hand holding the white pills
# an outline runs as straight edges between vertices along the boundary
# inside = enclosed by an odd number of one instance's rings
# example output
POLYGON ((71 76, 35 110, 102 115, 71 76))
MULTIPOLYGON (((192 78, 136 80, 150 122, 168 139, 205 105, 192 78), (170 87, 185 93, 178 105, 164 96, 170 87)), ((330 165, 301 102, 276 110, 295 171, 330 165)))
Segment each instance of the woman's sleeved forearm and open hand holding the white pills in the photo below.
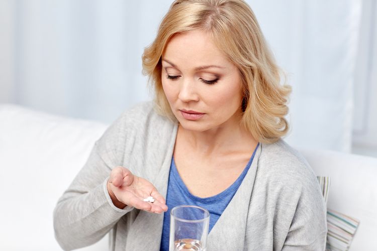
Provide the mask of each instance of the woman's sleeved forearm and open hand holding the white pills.
POLYGON ((55 235, 63 249, 97 242, 134 207, 152 213, 167 210, 156 188, 127 168, 117 166, 106 178, 110 168, 96 150, 97 145, 55 208, 55 235), (153 203, 143 201, 149 196, 153 203))

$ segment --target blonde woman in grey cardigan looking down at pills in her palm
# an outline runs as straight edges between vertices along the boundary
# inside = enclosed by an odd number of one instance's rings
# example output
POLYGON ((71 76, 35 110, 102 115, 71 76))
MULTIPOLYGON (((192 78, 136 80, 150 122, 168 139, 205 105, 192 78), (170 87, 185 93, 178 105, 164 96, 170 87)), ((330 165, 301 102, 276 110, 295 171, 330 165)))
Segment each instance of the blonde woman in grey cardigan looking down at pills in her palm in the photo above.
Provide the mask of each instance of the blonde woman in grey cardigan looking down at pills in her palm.
POLYGON ((281 140, 290 87, 249 6, 175 1, 143 67, 155 101, 96 143, 56 206, 60 245, 110 231, 111 250, 168 250, 169 210, 196 204, 211 213, 208 250, 323 250, 318 182, 281 140))

